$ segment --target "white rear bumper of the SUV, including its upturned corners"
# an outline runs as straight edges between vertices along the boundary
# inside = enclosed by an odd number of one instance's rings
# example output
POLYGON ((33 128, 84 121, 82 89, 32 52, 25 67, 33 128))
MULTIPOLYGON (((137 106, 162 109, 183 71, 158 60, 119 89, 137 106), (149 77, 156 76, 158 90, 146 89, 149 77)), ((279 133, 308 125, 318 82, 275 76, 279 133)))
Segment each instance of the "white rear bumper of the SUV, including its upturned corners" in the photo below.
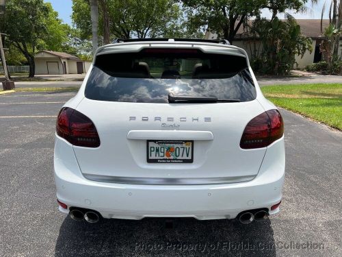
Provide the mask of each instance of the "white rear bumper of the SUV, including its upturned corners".
MULTIPOLYGON (((279 140, 273 147, 284 147, 279 140)), ((56 144, 57 147, 57 144, 56 144)), ((139 185, 113 184, 87 180, 79 171, 73 149, 55 148, 57 199, 68 207, 97 210, 104 218, 143 219, 144 217, 194 217, 234 219, 239 212, 271 208, 282 197, 285 154, 268 151, 254 180, 216 185, 139 185), (70 152, 68 152, 70 151, 70 152), (57 153, 57 154, 56 154, 57 153), (67 155, 68 162, 63 156, 67 155), (73 158, 70 158, 73 156, 73 158), (63 161, 62 161, 63 160, 63 161)), ((60 208, 63 212, 68 210, 60 208)), ((269 212, 270 215, 279 209, 269 212)))

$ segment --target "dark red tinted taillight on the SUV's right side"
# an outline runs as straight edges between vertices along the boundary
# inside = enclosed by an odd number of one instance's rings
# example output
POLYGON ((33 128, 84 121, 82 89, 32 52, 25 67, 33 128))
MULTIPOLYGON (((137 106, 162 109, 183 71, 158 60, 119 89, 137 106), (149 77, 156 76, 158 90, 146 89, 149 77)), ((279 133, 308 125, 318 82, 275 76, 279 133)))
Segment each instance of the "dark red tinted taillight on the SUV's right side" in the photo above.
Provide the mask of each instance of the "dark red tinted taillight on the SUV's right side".
POLYGON ((252 119, 241 137, 242 149, 267 147, 284 134, 284 122, 278 110, 267 110, 252 119))

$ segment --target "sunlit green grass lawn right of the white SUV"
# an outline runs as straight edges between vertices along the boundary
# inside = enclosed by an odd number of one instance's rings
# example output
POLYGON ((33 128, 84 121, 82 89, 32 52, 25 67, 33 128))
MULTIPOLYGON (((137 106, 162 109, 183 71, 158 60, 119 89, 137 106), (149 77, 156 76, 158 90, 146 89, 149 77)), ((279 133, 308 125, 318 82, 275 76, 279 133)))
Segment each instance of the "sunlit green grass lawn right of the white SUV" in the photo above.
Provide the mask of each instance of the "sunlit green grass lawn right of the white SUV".
POLYGON ((261 90, 276 106, 342 130, 342 84, 275 85, 261 90))

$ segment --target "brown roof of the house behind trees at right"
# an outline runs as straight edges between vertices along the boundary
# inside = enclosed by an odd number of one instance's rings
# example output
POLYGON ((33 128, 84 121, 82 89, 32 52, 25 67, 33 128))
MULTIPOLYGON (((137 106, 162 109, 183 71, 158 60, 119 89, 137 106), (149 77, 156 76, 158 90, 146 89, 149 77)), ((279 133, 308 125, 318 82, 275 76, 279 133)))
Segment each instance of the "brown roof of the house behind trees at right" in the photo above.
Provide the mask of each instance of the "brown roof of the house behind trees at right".
MULTIPOLYGON (((321 32, 321 19, 296 19, 298 25, 300 25, 300 30, 304 36, 308 38, 324 38, 323 33, 321 32)), ((252 20, 249 21, 252 23, 252 20)), ((324 19, 322 21, 323 31, 329 25, 329 20, 324 19)), ((237 35, 235 36, 235 40, 244 40, 246 38, 250 38, 248 32, 244 25, 239 27, 237 31, 237 35)))

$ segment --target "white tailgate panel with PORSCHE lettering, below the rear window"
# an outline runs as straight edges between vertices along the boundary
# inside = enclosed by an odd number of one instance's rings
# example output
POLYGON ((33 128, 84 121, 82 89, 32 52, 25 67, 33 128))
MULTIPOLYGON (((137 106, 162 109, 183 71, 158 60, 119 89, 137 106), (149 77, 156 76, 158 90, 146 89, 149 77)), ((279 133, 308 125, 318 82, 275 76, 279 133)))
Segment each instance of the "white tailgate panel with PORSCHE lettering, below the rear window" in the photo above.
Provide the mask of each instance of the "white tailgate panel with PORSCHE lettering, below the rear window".
POLYGON ((264 111, 257 100, 156 104, 84 98, 77 110, 92 119, 101 139, 98 148, 74 147, 82 173, 92 180, 135 184, 241 182, 257 175, 266 151, 239 147, 246 124, 264 111), (148 163, 146 143, 155 139, 194 140, 193 162, 148 163))

